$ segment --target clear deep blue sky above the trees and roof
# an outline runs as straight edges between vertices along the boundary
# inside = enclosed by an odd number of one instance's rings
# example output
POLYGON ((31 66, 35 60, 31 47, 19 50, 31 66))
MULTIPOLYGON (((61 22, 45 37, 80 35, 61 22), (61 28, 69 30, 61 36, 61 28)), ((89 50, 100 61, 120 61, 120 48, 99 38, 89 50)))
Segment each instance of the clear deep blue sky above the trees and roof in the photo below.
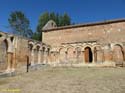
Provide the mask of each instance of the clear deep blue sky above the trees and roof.
POLYGON ((68 13, 76 24, 125 18, 125 0, 0 0, 0 31, 8 32, 11 12, 22 11, 36 31, 39 16, 68 13))

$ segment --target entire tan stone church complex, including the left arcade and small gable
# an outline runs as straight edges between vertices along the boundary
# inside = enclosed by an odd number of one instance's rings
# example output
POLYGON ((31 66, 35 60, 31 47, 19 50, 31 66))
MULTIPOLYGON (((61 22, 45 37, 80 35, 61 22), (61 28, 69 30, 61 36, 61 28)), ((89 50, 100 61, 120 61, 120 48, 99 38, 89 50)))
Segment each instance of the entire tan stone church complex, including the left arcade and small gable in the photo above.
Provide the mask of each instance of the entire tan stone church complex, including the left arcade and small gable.
POLYGON ((0 32, 0 72, 21 66, 124 66, 125 19, 57 27, 50 20, 42 41, 0 32))

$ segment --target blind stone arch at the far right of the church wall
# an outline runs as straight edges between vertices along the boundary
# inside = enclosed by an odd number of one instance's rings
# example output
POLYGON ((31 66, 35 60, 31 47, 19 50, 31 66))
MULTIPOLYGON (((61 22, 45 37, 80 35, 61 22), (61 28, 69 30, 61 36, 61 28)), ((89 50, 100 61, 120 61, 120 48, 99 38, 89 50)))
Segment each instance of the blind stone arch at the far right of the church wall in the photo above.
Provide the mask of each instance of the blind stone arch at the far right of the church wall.
POLYGON ((113 46, 113 61, 116 63, 122 63, 124 61, 124 51, 120 44, 113 46))

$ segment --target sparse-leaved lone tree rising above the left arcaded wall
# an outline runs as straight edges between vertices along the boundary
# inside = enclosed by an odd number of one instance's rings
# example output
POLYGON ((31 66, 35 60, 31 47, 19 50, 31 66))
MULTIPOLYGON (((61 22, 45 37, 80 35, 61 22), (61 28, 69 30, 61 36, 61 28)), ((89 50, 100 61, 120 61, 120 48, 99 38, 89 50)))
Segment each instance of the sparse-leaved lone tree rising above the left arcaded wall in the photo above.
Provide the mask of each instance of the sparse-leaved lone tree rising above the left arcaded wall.
POLYGON ((28 38, 32 37, 33 32, 30 29, 30 22, 23 12, 11 12, 8 21, 13 34, 21 35, 28 38))

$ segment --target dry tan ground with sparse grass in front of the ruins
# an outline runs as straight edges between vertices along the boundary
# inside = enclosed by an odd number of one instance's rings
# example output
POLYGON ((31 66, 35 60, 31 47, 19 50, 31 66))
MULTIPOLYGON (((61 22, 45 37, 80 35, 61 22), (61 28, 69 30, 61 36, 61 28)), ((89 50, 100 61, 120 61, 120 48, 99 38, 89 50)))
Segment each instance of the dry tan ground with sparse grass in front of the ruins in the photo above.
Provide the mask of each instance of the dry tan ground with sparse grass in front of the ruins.
POLYGON ((0 78, 0 93, 125 93, 125 68, 50 68, 0 78))

